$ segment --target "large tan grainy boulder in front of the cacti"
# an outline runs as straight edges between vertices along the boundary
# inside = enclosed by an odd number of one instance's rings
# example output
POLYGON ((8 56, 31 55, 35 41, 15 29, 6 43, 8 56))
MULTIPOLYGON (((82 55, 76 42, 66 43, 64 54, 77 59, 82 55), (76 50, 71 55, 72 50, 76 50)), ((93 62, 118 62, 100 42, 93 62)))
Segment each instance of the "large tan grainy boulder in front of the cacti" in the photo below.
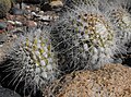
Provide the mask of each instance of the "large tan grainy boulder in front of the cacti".
POLYGON ((45 97, 131 97, 131 68, 107 64, 97 71, 73 72, 46 89, 45 97))

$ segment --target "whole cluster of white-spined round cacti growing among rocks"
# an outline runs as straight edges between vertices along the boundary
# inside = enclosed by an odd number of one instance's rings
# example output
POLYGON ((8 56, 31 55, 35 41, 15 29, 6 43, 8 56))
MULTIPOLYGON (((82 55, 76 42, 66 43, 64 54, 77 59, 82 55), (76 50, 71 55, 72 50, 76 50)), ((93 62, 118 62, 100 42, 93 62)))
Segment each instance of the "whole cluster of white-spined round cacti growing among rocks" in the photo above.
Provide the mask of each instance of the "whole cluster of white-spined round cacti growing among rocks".
POLYGON ((17 65, 14 78, 25 81, 25 87, 40 88, 60 72, 95 70, 127 53, 131 14, 122 4, 87 2, 68 9, 50 32, 37 29, 16 40, 11 57, 17 65))

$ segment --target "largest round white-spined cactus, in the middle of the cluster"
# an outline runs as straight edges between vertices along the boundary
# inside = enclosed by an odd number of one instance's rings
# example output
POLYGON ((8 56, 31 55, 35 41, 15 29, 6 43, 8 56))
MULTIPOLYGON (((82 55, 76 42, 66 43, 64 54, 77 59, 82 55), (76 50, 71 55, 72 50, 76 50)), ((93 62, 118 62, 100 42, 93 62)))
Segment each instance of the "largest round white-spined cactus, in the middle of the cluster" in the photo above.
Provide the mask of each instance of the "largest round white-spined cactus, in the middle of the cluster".
POLYGON ((94 70, 114 62, 114 56, 121 49, 116 43, 116 29, 108 17, 102 13, 97 3, 80 3, 74 8, 68 10, 57 25, 63 43, 70 40, 70 44, 67 43, 70 48, 67 49, 70 49, 68 53, 72 53, 72 57, 69 56, 73 61, 71 63, 74 63, 72 65, 94 70))

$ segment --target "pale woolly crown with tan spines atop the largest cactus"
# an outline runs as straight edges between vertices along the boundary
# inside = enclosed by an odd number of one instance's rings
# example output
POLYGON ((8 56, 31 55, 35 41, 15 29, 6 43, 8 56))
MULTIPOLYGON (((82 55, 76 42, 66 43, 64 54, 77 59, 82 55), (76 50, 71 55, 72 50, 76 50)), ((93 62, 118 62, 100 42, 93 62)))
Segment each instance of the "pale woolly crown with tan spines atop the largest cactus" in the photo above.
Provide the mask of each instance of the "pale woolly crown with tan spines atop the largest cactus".
POLYGON ((107 47, 112 40, 114 32, 103 16, 96 14, 78 15, 74 27, 82 40, 88 41, 93 47, 107 47))

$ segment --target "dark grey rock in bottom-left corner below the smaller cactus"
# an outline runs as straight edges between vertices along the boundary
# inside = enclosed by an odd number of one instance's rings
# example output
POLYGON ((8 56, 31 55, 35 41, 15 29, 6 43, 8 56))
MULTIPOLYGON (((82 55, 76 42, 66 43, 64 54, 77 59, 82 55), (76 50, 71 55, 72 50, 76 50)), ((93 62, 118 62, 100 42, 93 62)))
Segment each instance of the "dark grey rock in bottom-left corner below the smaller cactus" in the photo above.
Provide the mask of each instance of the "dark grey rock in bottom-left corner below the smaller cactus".
POLYGON ((0 85, 0 97, 21 97, 21 96, 15 92, 4 88, 0 85))

